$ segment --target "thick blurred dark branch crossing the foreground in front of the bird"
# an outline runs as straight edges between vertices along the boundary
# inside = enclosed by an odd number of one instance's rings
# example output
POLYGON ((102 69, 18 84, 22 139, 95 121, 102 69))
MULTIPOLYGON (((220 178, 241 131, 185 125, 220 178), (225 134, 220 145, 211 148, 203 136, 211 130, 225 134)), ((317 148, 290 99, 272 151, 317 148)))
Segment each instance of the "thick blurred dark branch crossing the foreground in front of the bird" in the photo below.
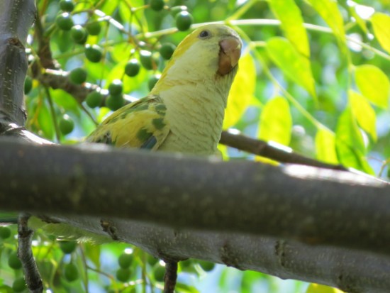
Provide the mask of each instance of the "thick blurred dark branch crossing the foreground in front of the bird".
POLYGON ((390 253, 390 185, 369 177, 104 145, 1 140, 0 152, 7 211, 116 216, 390 253))

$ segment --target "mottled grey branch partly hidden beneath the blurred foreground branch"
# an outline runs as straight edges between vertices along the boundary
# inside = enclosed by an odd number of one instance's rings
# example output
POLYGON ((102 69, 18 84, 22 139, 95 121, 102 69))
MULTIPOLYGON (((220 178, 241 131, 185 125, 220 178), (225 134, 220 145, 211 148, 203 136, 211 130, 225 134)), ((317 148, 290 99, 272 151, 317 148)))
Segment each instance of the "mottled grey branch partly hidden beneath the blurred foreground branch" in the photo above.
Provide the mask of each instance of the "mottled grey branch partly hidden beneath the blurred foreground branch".
MULTIPOLYGON (((106 235, 99 218, 67 216, 55 220, 106 235)), ((198 258, 282 279, 328 284, 350 293, 390 290, 390 258, 386 255, 243 233, 173 229, 159 223, 113 219, 111 225, 120 241, 133 243, 158 258, 198 258)))

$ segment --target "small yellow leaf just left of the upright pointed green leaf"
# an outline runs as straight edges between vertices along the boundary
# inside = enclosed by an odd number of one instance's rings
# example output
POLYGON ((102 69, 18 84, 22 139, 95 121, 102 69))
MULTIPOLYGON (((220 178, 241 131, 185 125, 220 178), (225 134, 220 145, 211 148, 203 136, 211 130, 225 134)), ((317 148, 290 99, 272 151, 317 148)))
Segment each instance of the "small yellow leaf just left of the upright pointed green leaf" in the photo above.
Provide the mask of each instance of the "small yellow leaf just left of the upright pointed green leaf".
POLYGON ((335 134, 327 129, 321 128, 316 134, 316 157, 318 160, 337 165, 338 155, 336 153, 335 134))

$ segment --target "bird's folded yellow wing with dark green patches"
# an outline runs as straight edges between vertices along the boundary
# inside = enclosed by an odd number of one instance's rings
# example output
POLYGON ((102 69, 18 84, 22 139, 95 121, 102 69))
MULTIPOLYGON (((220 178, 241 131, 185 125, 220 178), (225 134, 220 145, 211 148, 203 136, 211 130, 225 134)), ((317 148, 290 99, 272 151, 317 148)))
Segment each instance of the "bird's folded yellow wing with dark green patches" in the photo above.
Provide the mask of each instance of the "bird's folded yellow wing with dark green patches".
POLYGON ((86 140, 118 148, 157 150, 170 129, 166 111, 160 96, 145 96, 115 111, 86 140))

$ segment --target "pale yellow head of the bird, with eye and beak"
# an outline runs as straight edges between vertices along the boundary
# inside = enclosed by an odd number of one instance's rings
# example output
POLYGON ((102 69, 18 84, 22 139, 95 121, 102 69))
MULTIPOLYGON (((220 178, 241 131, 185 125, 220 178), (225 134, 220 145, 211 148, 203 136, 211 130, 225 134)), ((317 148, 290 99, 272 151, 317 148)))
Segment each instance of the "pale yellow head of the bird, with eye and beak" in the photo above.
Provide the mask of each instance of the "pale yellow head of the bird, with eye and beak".
POLYGON ((242 42, 228 26, 211 24, 196 28, 182 40, 162 72, 162 80, 188 79, 190 82, 226 79, 233 82, 238 70, 242 42))

